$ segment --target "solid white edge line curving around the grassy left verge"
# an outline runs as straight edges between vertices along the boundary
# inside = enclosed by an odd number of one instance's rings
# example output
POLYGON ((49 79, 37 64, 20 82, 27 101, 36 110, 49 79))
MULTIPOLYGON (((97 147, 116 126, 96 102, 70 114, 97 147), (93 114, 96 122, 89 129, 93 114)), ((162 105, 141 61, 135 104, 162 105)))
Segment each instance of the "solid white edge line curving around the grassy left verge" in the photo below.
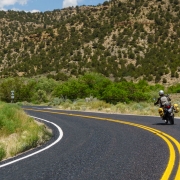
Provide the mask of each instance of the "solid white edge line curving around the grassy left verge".
POLYGON ((0 168, 2 168, 2 167, 4 167, 4 166, 8 166, 8 165, 13 164, 13 163, 16 163, 16 162, 21 161, 21 160, 23 160, 23 159, 29 158, 29 157, 31 157, 31 156, 34 156, 35 154, 38 154, 38 153, 40 153, 40 152, 42 152, 42 151, 45 151, 45 150, 51 148, 52 146, 54 146, 55 144, 57 144, 57 143, 62 139, 62 137, 63 137, 63 131, 62 131, 62 129, 61 129, 57 124, 55 124, 55 123, 53 123, 53 122, 50 122, 50 121, 47 121, 47 120, 45 120, 45 119, 41 119, 41 118, 35 117, 35 116, 30 116, 30 117, 33 117, 33 118, 36 118, 36 119, 39 119, 39 120, 48 122, 48 123, 53 124, 54 126, 56 126, 56 128, 57 128, 58 131, 59 131, 59 137, 58 137, 58 139, 57 139, 56 141, 54 141, 52 144, 50 144, 49 146, 46 146, 45 148, 43 148, 43 149, 41 149, 41 150, 39 150, 39 151, 36 151, 36 152, 34 152, 34 153, 32 153, 32 154, 29 154, 29 155, 24 156, 24 157, 22 157, 22 158, 16 159, 16 160, 14 160, 14 161, 11 161, 11 162, 2 164, 2 165, 0 165, 0 168))

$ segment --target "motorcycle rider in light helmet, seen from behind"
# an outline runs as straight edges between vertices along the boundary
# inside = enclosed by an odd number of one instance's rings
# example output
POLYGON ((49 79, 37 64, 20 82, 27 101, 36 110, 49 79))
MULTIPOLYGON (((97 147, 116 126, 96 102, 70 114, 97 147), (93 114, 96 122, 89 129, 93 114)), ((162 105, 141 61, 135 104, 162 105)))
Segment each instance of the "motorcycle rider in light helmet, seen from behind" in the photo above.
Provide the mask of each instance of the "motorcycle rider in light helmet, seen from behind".
POLYGON ((159 114, 160 116, 163 118, 164 116, 164 105, 167 103, 171 103, 171 98, 169 97, 169 95, 165 95, 163 90, 159 91, 159 98, 157 99, 157 101, 154 103, 154 105, 159 104, 159 114))

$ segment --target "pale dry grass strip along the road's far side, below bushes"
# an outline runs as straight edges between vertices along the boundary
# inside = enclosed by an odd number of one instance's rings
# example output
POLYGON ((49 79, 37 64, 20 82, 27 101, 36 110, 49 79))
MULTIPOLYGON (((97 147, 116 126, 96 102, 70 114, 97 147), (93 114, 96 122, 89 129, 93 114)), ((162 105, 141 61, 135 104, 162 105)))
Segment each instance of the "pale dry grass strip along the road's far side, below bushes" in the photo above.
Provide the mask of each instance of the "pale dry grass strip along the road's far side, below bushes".
MULTIPOLYGON (((178 94, 171 95, 173 100, 172 104, 180 104, 180 101, 178 101, 178 99, 180 99, 179 96, 180 95, 178 94)), ((79 99, 74 102, 68 100, 67 102, 62 102, 56 107, 64 110, 159 116, 158 106, 154 106, 154 102, 131 102, 128 104, 119 102, 117 104, 109 104, 93 98, 89 102, 86 102, 84 99, 79 99)), ((178 115, 179 113, 175 114, 175 116, 178 115)))

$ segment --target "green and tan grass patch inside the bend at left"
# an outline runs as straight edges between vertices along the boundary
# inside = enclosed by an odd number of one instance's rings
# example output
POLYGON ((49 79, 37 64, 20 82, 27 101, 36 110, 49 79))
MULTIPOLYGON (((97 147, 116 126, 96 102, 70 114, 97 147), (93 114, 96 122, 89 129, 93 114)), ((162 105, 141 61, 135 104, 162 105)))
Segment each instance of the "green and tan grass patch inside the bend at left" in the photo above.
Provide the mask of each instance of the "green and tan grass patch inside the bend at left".
POLYGON ((0 102, 0 160, 37 147, 50 138, 46 126, 34 121, 18 105, 0 102))

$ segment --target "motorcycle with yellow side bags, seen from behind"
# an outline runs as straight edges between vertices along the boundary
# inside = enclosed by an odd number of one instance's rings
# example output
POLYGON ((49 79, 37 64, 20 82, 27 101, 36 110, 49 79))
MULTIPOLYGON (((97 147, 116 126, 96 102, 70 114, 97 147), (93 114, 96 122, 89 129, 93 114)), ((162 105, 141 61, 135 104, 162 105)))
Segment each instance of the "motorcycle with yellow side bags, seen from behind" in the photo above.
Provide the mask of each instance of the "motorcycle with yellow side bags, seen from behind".
POLYGON ((177 104, 171 105, 171 103, 166 103, 163 108, 159 108, 159 115, 166 124, 174 124, 174 113, 178 113, 179 108, 177 104))

